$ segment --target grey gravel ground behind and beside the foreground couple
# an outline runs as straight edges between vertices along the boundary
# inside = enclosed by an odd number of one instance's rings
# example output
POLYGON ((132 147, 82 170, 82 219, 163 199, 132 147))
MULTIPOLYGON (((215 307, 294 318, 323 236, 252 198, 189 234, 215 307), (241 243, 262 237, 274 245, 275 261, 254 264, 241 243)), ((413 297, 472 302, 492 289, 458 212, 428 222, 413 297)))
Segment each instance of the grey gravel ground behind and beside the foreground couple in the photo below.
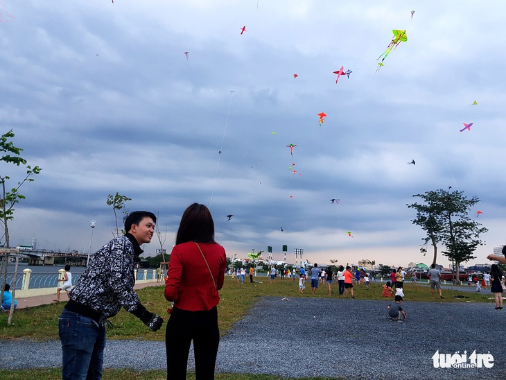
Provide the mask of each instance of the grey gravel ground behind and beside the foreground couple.
MULTIPOLYGON (((506 310, 493 303, 263 297, 220 342, 218 372, 344 379, 506 379, 506 310), (492 368, 434 368, 433 355, 491 354, 492 368)), ((58 367, 60 343, 0 342, 0 368, 58 367)), ((164 342, 108 340, 104 366, 164 369, 164 342)), ((466 363, 469 363, 467 361, 466 363)), ((190 361, 193 367, 193 359, 190 361)))

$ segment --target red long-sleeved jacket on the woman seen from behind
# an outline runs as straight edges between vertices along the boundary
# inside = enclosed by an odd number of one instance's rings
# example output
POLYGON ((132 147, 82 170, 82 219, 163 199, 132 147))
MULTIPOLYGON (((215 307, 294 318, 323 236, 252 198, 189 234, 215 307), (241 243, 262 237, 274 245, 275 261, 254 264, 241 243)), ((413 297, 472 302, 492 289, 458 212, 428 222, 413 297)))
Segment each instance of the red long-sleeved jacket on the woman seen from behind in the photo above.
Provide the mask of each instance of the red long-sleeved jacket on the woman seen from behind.
POLYGON ((223 287, 227 257, 225 249, 217 243, 198 243, 209 268, 193 241, 175 245, 168 266, 165 297, 174 301, 177 309, 187 311, 211 310, 220 302, 218 290, 223 287))

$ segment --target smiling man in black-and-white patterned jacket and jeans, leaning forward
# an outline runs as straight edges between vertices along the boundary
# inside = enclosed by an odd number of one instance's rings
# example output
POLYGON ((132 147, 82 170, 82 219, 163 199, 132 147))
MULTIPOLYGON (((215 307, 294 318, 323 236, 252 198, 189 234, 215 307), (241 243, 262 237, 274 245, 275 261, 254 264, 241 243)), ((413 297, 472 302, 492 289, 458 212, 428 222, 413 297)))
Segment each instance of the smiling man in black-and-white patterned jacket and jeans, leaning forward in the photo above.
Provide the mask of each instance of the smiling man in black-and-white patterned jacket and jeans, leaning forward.
POLYGON ((62 341, 62 378, 101 379, 105 322, 123 306, 152 331, 164 320, 142 306, 134 292, 134 264, 155 233, 156 216, 134 211, 125 218, 124 236, 103 246, 82 273, 58 321, 62 341))

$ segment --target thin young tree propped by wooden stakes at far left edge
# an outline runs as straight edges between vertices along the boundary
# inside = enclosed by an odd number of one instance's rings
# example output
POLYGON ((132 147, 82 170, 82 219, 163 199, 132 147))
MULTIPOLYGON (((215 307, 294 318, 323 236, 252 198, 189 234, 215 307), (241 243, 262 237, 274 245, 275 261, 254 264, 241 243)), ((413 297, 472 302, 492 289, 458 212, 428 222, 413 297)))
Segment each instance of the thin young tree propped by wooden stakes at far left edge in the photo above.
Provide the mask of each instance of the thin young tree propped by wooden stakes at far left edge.
MULTIPOLYGON (((23 184, 27 182, 33 182, 33 175, 37 175, 42 171, 42 169, 39 166, 30 166, 27 165, 26 159, 20 156, 21 152, 23 151, 22 148, 18 148, 17 146, 14 146, 11 139, 15 137, 14 132, 10 130, 9 132, 3 134, 0 137, 0 152, 6 153, 3 154, 2 157, 0 157, 0 161, 6 162, 7 164, 15 164, 16 166, 25 166, 26 168, 26 175, 24 175, 24 178, 17 182, 16 187, 12 187, 10 191, 8 191, 8 180, 10 180, 10 177, 0 172, 0 184, 1 184, 1 198, 0 198, 0 224, 3 227, 3 236, 2 239, 4 239, 5 243, 3 246, 5 248, 10 248, 10 240, 9 240, 9 227, 8 227, 8 221, 11 221, 14 218, 14 211, 15 211, 15 205, 19 203, 19 200, 25 199, 26 197, 19 193, 19 189, 23 184), (12 154, 12 155, 11 155, 12 154)), ((1 240, 1 239, 0 239, 1 240)), ((4 254, 3 261, 2 261, 2 267, 0 270, 0 273, 3 277, 1 281, 1 293, 0 293, 0 300, 3 297, 3 288, 5 288, 5 284, 7 281, 7 268, 8 268, 8 262, 9 262, 9 252, 6 250, 6 253, 4 254)), ((18 260, 18 257, 16 257, 16 262, 18 260)), ((15 273, 16 275, 16 273, 15 273)), ((12 286, 12 299, 14 300, 16 294, 16 288, 15 288, 15 282, 12 286)), ((14 304, 14 302, 12 302, 14 304)), ((13 308, 11 308, 11 311, 13 312, 13 308)), ((12 313, 9 316, 8 323, 10 324, 10 320, 12 318, 12 313)))

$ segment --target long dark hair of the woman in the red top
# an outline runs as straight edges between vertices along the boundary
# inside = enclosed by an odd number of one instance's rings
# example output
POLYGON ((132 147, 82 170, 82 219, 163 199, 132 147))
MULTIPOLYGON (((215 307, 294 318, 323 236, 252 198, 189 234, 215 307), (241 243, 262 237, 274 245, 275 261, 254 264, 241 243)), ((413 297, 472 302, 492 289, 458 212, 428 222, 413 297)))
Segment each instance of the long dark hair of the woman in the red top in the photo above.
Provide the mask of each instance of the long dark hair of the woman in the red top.
POLYGON ((211 211, 199 203, 189 205, 181 217, 175 243, 177 245, 187 241, 216 243, 214 241, 214 222, 211 211))

